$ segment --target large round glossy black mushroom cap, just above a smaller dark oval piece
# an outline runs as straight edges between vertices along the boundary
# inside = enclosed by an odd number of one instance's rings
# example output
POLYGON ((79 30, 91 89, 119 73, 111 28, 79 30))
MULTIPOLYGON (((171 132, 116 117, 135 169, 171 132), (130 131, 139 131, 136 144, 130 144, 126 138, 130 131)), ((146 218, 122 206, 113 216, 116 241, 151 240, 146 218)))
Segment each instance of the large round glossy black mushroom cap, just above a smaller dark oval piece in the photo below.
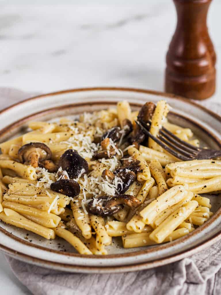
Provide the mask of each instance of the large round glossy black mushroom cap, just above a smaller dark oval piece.
POLYGON ((70 178, 77 178, 88 173, 88 162, 76 150, 66 150, 59 160, 59 167, 67 171, 70 178))

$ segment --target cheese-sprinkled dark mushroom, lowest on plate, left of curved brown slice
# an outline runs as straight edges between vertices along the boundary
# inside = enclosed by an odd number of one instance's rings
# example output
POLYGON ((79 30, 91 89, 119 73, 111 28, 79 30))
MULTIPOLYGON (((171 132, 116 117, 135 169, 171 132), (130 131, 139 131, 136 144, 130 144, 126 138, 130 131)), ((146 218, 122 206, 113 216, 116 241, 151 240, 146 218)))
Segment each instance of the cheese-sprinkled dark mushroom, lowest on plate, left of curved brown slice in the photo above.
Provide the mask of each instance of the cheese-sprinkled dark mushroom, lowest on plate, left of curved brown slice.
POLYGON ((123 205, 117 205, 113 207, 106 208, 105 205, 108 202, 110 197, 100 197, 96 198, 94 204, 94 199, 88 203, 87 209, 90 213, 99 216, 110 216, 117 213, 123 208, 123 205))

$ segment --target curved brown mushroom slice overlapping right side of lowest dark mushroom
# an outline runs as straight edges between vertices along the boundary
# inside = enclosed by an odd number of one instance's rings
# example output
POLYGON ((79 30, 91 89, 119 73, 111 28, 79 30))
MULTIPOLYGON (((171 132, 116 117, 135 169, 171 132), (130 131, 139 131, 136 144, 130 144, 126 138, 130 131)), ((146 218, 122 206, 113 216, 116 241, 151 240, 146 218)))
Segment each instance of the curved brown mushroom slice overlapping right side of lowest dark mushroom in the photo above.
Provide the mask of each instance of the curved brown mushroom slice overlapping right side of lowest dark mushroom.
POLYGON ((106 202, 105 209, 117 207, 122 204, 129 206, 131 209, 135 209, 140 205, 140 201, 134 196, 119 194, 106 202))

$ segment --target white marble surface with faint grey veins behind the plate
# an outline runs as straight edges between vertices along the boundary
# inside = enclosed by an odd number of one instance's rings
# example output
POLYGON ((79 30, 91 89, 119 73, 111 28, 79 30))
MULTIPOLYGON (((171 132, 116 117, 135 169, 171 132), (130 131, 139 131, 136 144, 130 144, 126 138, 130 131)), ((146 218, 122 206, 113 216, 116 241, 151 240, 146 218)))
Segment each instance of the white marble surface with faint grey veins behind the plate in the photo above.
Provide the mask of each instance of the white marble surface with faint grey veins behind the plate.
MULTIPOLYGON (((163 90, 174 5, 171 0, 138 2, 36 6, 0 1, 0 87, 29 92, 87 86, 163 90)), ((208 16, 218 55, 215 101, 221 94, 220 9, 221 1, 214 0, 208 16)), ((0 261, 1 293, 30 294, 2 254, 0 261)))

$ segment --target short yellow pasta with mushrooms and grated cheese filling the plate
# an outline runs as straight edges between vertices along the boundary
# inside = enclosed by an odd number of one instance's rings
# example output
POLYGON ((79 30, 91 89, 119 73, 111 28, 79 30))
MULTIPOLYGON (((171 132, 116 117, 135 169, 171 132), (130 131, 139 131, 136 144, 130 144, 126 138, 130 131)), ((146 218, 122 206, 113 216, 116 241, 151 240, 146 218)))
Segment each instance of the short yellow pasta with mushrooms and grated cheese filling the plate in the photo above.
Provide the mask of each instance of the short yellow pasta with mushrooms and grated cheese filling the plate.
POLYGON ((221 191, 221 160, 182 162, 146 138, 151 121, 196 146, 193 132, 168 122, 169 105, 127 101, 79 120, 30 122, 31 132, 0 144, 0 219, 46 239, 65 239, 80 254, 171 242, 211 216, 221 191))

